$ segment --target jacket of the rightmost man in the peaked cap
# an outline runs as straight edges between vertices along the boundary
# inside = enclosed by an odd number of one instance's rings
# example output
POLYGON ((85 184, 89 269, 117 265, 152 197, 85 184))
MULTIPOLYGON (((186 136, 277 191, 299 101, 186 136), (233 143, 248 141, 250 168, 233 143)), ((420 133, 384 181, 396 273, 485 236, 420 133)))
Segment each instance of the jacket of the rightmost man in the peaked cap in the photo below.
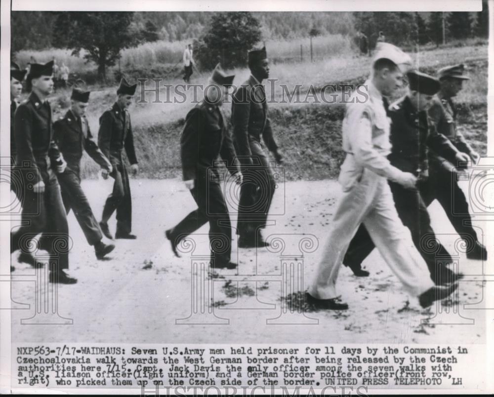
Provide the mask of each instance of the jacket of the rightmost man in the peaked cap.
MULTIPOLYGON (((432 100, 428 113, 437 131, 446 136, 460 152, 470 155, 473 151, 471 146, 467 143, 463 135, 456 130, 456 110, 453 101, 451 99, 441 98, 438 94, 432 100)), ((453 167, 453 164, 440 156, 439 153, 431 151, 429 153, 429 159, 447 169, 452 169, 453 167)))

